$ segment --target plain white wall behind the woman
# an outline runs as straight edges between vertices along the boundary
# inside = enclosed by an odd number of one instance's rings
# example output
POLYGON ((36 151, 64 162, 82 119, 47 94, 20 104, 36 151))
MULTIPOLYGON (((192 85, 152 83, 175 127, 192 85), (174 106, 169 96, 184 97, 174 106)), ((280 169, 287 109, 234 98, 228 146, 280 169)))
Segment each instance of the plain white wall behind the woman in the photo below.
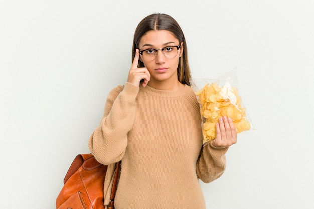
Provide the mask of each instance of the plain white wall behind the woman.
POLYGON ((55 208, 108 92, 126 81, 135 27, 155 12, 181 25, 194 77, 238 67, 256 129, 202 183, 207 208, 314 208, 311 0, 1 0, 0 208, 55 208))

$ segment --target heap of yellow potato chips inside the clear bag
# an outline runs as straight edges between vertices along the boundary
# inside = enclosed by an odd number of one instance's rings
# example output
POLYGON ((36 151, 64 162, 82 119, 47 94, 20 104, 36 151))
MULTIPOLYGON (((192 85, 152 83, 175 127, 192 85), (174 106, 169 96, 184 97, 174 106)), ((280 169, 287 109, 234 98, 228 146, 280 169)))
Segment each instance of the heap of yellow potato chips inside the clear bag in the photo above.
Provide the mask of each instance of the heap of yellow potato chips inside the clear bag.
POLYGON ((223 87, 216 83, 206 84, 203 89, 196 92, 196 95, 204 118, 203 144, 216 138, 216 123, 220 117, 230 117, 237 133, 251 128, 245 109, 241 107, 241 97, 235 87, 230 87, 228 83, 223 87))

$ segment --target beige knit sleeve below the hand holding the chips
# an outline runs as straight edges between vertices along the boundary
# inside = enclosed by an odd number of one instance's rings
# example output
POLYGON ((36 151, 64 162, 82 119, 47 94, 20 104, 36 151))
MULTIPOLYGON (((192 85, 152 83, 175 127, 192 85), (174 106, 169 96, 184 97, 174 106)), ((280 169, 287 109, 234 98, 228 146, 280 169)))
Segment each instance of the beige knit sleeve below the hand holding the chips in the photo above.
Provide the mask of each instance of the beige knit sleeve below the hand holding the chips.
POLYGON ((226 156, 228 147, 215 147, 211 142, 202 147, 199 160, 196 165, 196 173, 204 183, 209 183, 219 178, 226 168, 226 156))

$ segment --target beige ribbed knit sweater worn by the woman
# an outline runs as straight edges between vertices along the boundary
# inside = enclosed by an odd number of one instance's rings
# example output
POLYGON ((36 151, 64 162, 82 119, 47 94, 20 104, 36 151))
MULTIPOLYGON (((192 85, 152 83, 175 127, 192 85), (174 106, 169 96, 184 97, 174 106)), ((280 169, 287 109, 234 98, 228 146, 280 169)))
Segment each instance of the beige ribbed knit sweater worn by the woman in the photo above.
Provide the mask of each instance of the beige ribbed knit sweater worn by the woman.
POLYGON ((203 147, 202 139, 200 107, 190 86, 164 91, 126 83, 109 93, 89 149, 109 165, 105 194, 111 191, 113 163, 122 160, 116 209, 204 209, 199 179, 208 183, 222 175, 228 148, 203 147))

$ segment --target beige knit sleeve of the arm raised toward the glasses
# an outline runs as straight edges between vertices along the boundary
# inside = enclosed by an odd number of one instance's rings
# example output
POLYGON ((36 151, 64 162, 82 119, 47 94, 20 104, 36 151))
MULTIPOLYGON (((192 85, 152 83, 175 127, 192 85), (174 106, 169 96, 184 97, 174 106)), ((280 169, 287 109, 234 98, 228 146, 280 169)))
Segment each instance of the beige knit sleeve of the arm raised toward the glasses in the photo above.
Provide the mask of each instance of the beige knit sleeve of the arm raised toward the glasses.
POLYGON ((127 133, 134 123, 138 91, 139 87, 126 83, 108 94, 103 118, 88 142, 90 152, 100 163, 109 165, 123 158, 127 133))

